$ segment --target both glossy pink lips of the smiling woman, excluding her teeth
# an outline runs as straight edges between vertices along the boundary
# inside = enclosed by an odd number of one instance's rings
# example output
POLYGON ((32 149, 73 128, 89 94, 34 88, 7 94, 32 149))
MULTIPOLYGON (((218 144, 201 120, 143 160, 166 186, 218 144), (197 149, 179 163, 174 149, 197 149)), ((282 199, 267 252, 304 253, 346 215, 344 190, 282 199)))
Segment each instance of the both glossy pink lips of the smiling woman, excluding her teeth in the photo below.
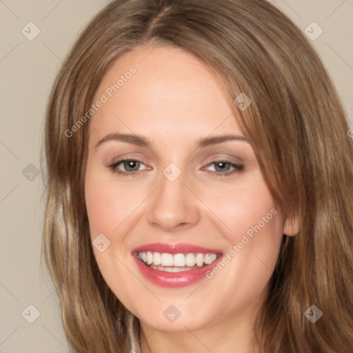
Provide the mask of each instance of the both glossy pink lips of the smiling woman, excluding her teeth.
POLYGON ((154 243, 143 245, 139 248, 136 248, 132 251, 132 256, 134 256, 135 261, 137 262, 137 267, 149 281, 154 284, 160 285, 161 287, 167 288, 182 288, 188 285, 192 285, 196 282, 201 281, 206 278, 206 272, 208 270, 212 270, 216 263, 221 261, 223 256, 219 256, 216 261, 210 263, 210 265, 206 265, 203 268, 197 268, 194 270, 188 270, 183 272, 165 272, 154 270, 154 268, 150 268, 148 265, 145 265, 138 257, 138 252, 168 252, 169 254, 185 254, 188 252, 194 253, 216 253, 221 254, 222 252, 219 250, 214 250, 210 248, 203 248, 196 245, 190 244, 163 244, 163 243, 154 243))

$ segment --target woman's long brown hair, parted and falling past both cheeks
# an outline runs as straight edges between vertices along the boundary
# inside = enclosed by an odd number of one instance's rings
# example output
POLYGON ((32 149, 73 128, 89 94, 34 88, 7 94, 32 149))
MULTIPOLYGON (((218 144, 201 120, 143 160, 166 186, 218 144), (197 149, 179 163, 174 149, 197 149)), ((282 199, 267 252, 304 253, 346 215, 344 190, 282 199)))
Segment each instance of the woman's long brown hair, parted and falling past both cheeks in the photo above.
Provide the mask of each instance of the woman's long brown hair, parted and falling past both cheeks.
MULTIPOLYGON (((238 110, 276 202, 299 233, 284 237, 256 337, 262 351, 353 352, 353 145, 330 77, 304 34, 265 0, 117 0, 65 59, 46 114, 43 256, 75 352, 139 351, 139 321, 106 285, 85 211, 89 121, 110 65, 140 44, 191 52, 238 110), (323 316, 310 322, 312 304, 323 316)), ((138 73, 137 73, 138 74, 138 73)), ((92 118, 94 119, 94 118, 92 118)))

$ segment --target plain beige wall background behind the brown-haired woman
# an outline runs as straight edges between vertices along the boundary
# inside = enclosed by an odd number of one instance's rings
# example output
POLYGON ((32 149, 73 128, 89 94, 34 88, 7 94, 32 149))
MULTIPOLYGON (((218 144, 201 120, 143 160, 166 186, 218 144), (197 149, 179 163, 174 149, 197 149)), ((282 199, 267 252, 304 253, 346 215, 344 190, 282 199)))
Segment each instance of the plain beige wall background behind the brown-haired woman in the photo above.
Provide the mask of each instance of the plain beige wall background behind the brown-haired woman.
MULTIPOLYGON (((68 352, 57 295, 46 271, 40 272, 44 187, 41 175, 36 172, 43 114, 52 81, 81 28, 106 3, 0 0, 0 352, 3 353, 68 352), (21 33, 30 21, 40 29, 32 41, 21 33), (26 321, 35 318, 35 310, 28 305, 34 305, 40 312, 33 323, 26 321)), ((353 0, 272 3, 301 30, 312 21, 323 29, 323 34, 312 44, 334 80, 352 127, 353 0)))

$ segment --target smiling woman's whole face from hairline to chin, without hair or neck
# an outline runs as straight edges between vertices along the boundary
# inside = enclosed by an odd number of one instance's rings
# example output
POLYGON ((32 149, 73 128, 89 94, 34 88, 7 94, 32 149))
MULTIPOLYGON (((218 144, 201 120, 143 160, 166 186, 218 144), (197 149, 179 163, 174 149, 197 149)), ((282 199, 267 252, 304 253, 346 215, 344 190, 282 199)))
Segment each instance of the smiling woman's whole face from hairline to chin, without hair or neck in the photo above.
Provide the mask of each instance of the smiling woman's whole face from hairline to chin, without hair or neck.
POLYGON ((145 327, 250 323, 286 221, 232 99, 165 46, 118 59, 94 102, 85 200, 106 283, 145 327))

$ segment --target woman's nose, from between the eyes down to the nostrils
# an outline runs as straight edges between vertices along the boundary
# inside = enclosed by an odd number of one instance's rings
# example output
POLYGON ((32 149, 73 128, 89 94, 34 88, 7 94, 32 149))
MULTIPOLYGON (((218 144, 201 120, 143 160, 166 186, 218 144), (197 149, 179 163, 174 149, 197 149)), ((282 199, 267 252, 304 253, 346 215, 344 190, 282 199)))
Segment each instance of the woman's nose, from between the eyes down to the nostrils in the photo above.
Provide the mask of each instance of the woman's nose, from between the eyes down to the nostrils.
POLYGON ((183 173, 174 181, 161 177, 161 185, 151 195, 148 222, 165 232, 186 230, 200 220, 197 198, 185 185, 183 173))

